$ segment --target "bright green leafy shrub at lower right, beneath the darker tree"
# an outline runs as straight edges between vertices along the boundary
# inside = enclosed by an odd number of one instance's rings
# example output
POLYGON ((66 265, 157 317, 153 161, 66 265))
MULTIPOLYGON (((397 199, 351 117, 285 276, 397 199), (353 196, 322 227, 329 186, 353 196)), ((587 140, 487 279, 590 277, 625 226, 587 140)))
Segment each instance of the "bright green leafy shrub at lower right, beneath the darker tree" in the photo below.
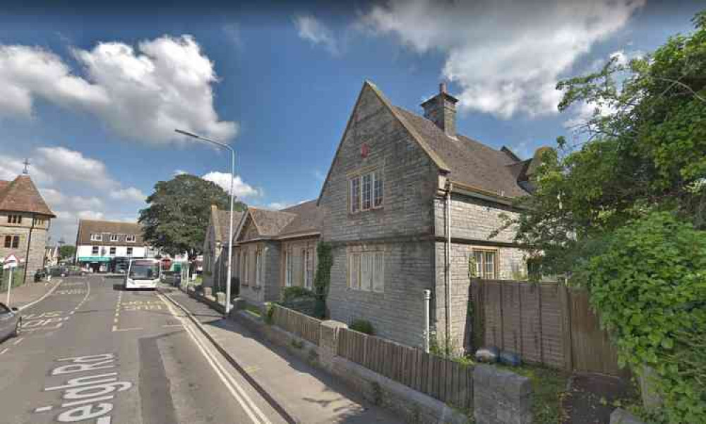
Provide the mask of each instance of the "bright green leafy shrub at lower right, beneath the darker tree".
POLYGON ((614 232, 582 267, 618 362, 657 374, 653 420, 706 423, 706 232, 651 213, 614 232))

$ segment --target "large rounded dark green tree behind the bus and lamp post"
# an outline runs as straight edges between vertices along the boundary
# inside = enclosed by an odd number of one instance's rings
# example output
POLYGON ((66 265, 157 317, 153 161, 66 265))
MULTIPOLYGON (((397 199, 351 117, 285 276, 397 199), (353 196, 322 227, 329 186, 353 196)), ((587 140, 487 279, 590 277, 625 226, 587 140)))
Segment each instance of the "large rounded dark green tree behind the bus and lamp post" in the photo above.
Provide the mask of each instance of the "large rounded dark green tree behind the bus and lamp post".
MULTIPOLYGON (((140 211, 145 241, 173 255, 187 252, 189 260, 203 249, 210 208, 229 208, 230 197, 221 187, 195 175, 181 174, 155 184, 147 198, 148 207, 140 211)), ((237 201, 235 211, 246 205, 237 201)))

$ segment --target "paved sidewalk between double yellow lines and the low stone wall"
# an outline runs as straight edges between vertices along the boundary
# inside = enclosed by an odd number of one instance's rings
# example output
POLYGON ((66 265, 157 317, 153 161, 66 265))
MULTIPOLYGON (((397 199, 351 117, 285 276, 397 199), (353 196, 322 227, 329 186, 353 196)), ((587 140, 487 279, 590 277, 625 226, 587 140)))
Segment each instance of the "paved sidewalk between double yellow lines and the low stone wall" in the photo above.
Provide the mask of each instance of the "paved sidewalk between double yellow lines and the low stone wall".
POLYGON ((404 421, 370 404, 327 373, 264 341, 258 334, 180 290, 169 295, 198 319, 211 337, 299 423, 404 421))

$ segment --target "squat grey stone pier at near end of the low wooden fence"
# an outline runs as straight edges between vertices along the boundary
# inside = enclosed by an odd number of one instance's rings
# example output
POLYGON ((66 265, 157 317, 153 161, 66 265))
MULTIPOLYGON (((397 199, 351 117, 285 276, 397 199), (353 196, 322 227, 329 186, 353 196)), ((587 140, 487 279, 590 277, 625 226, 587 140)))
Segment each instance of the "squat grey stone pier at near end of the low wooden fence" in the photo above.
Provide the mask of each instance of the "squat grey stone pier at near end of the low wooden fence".
POLYGON ((529 378, 493 365, 476 365, 473 391, 476 424, 532 423, 532 384, 529 378))

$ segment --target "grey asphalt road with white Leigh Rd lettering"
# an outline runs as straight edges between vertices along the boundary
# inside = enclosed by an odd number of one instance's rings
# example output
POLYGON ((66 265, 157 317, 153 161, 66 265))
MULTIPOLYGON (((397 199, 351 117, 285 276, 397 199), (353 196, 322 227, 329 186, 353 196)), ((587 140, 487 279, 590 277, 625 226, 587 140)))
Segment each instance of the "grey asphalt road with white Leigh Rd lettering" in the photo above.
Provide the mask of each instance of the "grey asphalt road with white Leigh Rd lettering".
POLYGON ((285 420, 154 291, 65 278, 0 343, 0 422, 280 424, 285 420))

